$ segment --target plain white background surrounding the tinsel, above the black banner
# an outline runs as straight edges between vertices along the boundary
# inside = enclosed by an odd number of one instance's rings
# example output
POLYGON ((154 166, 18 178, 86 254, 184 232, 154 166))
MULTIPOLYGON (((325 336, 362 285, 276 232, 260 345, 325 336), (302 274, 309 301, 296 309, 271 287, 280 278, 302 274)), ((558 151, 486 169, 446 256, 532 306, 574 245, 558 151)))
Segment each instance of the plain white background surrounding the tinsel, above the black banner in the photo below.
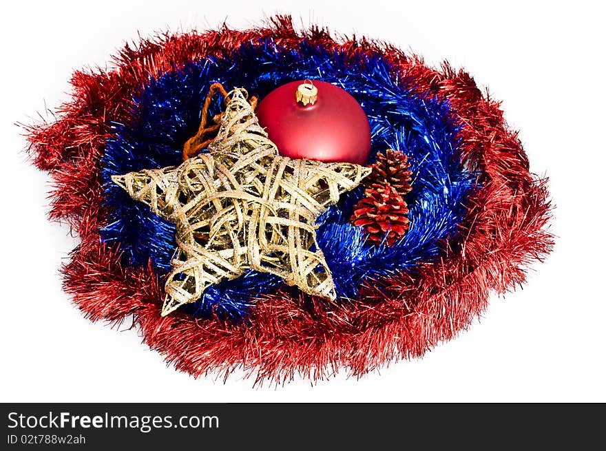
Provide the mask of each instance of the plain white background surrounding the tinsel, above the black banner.
POLYGON ((599 2, 28 1, 0 18, 0 401, 606 401, 606 88, 599 2), (421 360, 360 380, 252 388, 167 368, 136 331, 92 324, 61 291, 76 240, 48 222, 50 178, 28 164, 23 132, 67 98, 83 65, 104 66, 154 31, 235 28, 290 12, 466 67, 503 99, 531 169, 550 176, 556 249, 523 290, 493 297, 481 321, 421 360))

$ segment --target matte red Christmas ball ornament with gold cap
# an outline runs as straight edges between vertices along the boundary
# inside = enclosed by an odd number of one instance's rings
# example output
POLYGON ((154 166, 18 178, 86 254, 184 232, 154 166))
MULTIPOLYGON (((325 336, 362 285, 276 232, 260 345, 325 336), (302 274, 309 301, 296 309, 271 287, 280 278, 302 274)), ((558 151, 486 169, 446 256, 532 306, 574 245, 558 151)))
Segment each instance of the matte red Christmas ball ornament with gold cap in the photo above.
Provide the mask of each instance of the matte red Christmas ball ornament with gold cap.
POLYGON ((293 81, 259 103, 259 123, 280 155, 366 164, 370 125, 348 92, 325 81, 293 81))

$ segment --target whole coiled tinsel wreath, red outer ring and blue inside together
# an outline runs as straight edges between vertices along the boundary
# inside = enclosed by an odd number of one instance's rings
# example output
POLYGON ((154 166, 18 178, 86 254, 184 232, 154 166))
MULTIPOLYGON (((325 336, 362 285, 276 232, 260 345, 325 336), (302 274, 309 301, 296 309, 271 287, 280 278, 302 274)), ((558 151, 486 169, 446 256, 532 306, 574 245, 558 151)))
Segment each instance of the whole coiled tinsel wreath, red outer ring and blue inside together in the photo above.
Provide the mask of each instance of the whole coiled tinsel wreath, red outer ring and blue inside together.
POLYGON ((463 70, 427 67, 377 41, 295 31, 289 17, 143 39, 114 64, 74 74, 56 120, 28 129, 30 152, 54 178, 50 217, 81 238, 63 266, 65 291, 93 321, 132 315, 145 343, 179 370, 227 377, 241 368, 259 383, 282 383, 419 357, 466 328, 490 293, 523 283, 527 266, 550 251, 545 180, 529 172, 499 103, 463 70), (350 222, 364 196, 358 187, 317 220, 335 302, 249 271, 161 317, 174 226, 111 176, 179 165, 211 83, 263 98, 304 78, 338 85, 362 105, 369 166, 377 151, 406 154, 406 235, 366 240, 350 222))

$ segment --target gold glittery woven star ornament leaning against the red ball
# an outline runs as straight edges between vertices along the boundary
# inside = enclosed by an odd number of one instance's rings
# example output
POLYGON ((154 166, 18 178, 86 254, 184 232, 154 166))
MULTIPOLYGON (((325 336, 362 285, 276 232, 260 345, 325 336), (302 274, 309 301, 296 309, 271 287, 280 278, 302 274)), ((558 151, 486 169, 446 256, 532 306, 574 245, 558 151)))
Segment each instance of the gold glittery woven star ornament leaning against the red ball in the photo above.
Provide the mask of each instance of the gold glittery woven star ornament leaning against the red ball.
POLYGON ((334 300, 335 284, 315 221, 370 173, 352 163, 293 160, 260 127, 245 90, 233 90, 208 153, 178 167, 112 180, 176 225, 162 315, 205 289, 254 269, 334 300))

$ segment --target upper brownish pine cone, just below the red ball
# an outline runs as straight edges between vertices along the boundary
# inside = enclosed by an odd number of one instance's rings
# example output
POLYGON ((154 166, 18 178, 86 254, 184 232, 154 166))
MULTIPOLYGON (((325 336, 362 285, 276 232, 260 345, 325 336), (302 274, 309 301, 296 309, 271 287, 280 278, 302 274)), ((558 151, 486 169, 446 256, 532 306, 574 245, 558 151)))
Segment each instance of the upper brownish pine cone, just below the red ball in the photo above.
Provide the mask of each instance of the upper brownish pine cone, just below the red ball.
POLYGON ((412 172, 406 154, 399 150, 387 149, 382 154, 377 154, 377 162, 373 165, 373 171, 362 180, 363 185, 368 188, 372 185, 391 185, 400 196, 410 193, 412 187, 412 172))

